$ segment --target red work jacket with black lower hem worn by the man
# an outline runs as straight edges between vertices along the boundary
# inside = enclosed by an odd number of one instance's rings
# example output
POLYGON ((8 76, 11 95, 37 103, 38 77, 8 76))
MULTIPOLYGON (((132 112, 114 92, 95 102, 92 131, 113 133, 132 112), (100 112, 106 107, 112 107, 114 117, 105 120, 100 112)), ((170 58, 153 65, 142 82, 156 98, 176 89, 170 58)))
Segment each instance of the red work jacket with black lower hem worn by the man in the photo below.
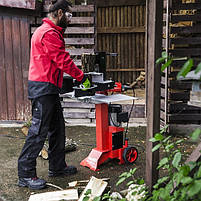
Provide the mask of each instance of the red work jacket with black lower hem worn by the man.
POLYGON ((31 39, 28 97, 57 94, 63 83, 63 73, 81 81, 84 74, 65 51, 63 30, 48 18, 36 29, 31 39))

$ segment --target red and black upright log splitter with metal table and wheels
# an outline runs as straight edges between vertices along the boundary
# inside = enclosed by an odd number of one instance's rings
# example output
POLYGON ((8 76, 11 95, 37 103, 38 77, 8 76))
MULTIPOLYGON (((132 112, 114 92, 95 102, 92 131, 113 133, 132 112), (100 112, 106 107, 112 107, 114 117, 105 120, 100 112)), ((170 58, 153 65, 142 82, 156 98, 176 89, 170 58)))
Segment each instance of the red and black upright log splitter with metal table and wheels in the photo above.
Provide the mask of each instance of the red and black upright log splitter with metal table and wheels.
MULTIPOLYGON (((82 91, 74 88, 75 97, 84 95, 91 96, 91 102, 95 103, 96 109, 96 148, 93 148, 84 160, 81 161, 82 166, 89 167, 91 170, 98 170, 99 165, 108 159, 119 159, 119 164, 132 164, 137 160, 138 151, 133 146, 128 146, 128 138, 124 136, 124 128, 121 127, 122 122, 129 121, 128 112, 122 112, 122 105, 111 104, 113 102, 134 100, 135 97, 123 94, 108 95, 108 92, 122 92, 129 87, 123 87, 121 83, 112 80, 104 80, 106 73, 106 56, 114 56, 114 53, 96 52, 94 57, 95 69, 88 73, 91 83, 95 86, 95 94, 92 91, 82 91)), ((93 63, 93 62, 92 62, 93 63)), ((83 62, 82 62, 83 67, 83 62)), ((134 102, 133 102, 134 103, 134 102)), ((126 131, 127 132, 127 131, 126 131)))

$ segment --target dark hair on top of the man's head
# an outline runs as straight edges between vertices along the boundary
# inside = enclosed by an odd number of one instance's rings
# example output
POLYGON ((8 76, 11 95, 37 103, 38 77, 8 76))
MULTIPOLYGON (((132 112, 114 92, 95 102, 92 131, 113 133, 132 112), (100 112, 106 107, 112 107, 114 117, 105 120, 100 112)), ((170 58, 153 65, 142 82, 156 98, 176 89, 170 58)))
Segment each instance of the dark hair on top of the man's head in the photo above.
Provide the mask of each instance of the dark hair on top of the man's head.
POLYGON ((66 12, 69 10, 69 7, 72 7, 72 4, 68 0, 52 0, 48 13, 51 13, 53 17, 57 17, 57 11, 59 9, 62 9, 63 12, 66 12))

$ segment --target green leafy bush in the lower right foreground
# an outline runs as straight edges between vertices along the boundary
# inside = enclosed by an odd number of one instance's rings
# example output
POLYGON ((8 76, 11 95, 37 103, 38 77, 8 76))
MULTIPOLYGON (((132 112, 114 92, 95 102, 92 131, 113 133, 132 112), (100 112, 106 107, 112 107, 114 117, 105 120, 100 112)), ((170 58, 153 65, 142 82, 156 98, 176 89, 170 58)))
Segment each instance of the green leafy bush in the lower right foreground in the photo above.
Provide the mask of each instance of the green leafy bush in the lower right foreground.
MULTIPOLYGON (((156 143, 152 151, 161 149, 163 158, 158 164, 158 169, 165 173, 165 176, 158 179, 150 193, 144 184, 143 179, 135 179, 136 168, 124 172, 119 176, 116 185, 123 184, 127 179, 127 194, 121 198, 114 198, 110 192, 101 198, 96 197, 93 201, 201 201, 201 162, 184 162, 185 155, 181 152, 179 145, 184 143, 183 139, 174 141, 171 136, 165 136, 167 126, 159 133, 156 133, 151 142, 156 143)), ((191 134, 191 141, 197 141, 201 134, 196 129, 191 134)), ((90 194, 90 192, 88 192, 90 194)), ((84 201, 89 198, 88 194, 84 201)))

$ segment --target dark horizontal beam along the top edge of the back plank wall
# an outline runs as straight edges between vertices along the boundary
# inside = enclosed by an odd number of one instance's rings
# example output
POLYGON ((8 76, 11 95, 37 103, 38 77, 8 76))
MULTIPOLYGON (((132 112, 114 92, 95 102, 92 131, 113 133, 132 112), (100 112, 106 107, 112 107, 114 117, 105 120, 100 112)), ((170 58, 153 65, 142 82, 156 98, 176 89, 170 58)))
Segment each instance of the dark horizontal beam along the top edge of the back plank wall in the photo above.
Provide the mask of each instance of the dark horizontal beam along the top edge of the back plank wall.
POLYGON ((145 0, 96 0, 97 7, 114 7, 114 6, 137 6, 137 5, 145 5, 145 0))

